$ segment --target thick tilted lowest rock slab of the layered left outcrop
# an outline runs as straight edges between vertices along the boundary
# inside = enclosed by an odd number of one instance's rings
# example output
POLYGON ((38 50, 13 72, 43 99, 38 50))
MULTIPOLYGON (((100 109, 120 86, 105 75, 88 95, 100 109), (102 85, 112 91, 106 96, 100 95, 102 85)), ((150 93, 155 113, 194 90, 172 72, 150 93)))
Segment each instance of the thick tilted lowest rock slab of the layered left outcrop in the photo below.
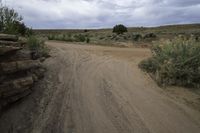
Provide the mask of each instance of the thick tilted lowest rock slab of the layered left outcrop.
POLYGON ((0 98, 6 98, 24 92, 29 89, 33 83, 32 76, 5 82, 0 85, 0 98))

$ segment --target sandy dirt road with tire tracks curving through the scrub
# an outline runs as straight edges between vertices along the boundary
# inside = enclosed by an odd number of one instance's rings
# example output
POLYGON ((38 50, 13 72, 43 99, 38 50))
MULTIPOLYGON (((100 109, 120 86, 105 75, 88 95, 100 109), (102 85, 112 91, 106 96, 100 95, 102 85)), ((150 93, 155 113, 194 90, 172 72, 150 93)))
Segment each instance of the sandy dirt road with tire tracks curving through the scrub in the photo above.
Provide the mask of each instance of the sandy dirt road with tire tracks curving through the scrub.
POLYGON ((1 115, 2 133, 200 132, 200 113, 137 67, 150 50, 47 44, 46 78, 1 115))

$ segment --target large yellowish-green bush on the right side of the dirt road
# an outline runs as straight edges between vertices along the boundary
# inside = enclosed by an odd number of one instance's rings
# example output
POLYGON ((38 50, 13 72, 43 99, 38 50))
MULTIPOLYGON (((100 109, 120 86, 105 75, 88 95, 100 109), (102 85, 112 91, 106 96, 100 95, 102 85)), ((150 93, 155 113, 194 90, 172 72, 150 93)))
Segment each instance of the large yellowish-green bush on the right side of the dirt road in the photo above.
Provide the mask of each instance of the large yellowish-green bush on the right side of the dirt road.
POLYGON ((152 47, 153 57, 139 67, 155 75, 164 85, 200 87, 200 43, 176 38, 152 47))

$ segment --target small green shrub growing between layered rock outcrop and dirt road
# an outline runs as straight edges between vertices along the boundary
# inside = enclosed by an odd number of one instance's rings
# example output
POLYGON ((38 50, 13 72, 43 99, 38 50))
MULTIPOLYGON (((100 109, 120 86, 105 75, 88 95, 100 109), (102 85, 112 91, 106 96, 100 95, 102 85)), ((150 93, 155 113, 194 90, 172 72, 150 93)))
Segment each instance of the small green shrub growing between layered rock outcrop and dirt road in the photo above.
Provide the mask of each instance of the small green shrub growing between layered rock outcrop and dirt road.
POLYGON ((30 36, 27 39, 27 46, 31 50, 34 59, 49 56, 49 49, 44 44, 44 41, 37 39, 35 36, 30 36))

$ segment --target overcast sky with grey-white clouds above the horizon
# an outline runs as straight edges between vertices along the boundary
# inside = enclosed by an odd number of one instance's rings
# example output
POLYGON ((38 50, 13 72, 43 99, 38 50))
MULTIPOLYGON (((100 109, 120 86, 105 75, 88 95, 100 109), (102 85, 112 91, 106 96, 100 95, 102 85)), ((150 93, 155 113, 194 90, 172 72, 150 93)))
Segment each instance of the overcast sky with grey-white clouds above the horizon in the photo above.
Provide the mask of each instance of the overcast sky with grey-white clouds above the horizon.
POLYGON ((3 0, 32 28, 200 23, 200 0, 3 0))

